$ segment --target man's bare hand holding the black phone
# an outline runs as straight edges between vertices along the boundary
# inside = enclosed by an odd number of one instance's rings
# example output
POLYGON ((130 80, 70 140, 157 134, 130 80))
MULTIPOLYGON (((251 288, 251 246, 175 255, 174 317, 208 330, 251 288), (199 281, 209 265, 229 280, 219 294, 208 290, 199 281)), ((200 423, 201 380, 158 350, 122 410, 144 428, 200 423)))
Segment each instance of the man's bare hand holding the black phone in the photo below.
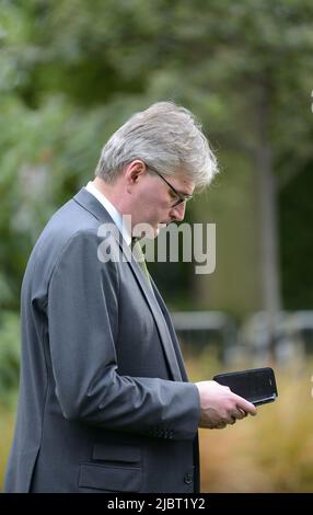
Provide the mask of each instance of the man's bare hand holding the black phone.
POLYGON ((199 427, 221 430, 247 414, 256 415, 256 408, 246 399, 233 393, 229 387, 216 381, 196 382, 200 396, 199 427))

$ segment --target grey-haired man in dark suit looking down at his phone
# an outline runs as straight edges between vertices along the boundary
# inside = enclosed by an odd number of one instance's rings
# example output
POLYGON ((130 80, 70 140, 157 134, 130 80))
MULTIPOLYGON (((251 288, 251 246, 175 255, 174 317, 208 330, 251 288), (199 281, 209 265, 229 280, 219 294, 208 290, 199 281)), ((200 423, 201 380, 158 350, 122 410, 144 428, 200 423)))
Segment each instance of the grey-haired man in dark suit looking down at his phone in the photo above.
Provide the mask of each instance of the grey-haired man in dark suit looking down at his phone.
POLYGON ((170 314, 131 252, 139 224, 156 236, 183 220, 216 169, 192 113, 160 102, 112 136, 94 181, 47 224, 22 286, 7 492, 194 492, 197 428, 255 414, 215 381, 187 381, 170 314), (109 260, 100 227, 117 228, 109 260))

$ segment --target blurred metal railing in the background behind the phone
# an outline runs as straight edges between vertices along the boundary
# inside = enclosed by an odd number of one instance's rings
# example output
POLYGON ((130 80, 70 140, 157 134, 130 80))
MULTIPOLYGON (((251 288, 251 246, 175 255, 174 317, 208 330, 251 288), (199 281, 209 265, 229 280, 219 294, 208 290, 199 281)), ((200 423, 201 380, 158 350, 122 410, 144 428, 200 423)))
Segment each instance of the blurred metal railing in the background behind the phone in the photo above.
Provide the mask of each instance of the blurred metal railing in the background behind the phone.
POLYGON ((245 356, 256 366, 313 355, 313 311, 280 311, 275 317, 259 311, 240 327, 222 311, 181 311, 172 318, 187 355, 211 346, 223 363, 245 356))

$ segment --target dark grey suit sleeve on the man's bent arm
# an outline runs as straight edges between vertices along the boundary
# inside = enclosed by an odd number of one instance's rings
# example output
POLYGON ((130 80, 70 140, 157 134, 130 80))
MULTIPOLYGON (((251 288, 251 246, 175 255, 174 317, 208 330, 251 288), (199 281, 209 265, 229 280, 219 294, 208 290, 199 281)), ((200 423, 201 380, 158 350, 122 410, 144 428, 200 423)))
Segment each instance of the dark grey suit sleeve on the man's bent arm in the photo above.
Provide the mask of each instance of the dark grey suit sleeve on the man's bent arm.
POLYGON ((117 373, 118 272, 97 259, 92 232, 74 234, 48 290, 49 345, 63 416, 108 430, 192 439, 200 417, 197 387, 117 373))

